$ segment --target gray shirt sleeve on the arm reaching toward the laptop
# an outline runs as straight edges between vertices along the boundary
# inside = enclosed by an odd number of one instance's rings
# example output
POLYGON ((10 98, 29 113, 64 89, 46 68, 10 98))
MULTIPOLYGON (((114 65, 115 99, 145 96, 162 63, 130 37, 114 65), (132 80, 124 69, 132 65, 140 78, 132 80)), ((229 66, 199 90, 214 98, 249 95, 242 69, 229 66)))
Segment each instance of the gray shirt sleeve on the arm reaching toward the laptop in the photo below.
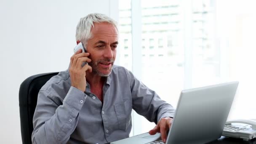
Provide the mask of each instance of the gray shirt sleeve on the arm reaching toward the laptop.
POLYGON ((139 115, 143 115, 147 120, 156 124, 163 117, 174 116, 175 109, 171 104, 160 99, 155 91, 141 83, 130 71, 128 71, 128 78, 131 85, 133 109, 139 115))

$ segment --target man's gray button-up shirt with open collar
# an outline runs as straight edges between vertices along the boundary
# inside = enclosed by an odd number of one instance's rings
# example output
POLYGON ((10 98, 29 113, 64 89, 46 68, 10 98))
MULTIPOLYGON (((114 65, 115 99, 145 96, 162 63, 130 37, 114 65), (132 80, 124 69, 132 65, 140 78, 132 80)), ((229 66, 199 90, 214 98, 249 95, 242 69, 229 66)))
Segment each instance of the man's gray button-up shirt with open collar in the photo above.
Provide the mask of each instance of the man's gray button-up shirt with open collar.
POLYGON ((103 86, 104 103, 90 91, 71 86, 68 70, 39 91, 33 117, 34 144, 104 144, 131 132, 131 110, 157 123, 175 109, 124 67, 114 66, 103 86))

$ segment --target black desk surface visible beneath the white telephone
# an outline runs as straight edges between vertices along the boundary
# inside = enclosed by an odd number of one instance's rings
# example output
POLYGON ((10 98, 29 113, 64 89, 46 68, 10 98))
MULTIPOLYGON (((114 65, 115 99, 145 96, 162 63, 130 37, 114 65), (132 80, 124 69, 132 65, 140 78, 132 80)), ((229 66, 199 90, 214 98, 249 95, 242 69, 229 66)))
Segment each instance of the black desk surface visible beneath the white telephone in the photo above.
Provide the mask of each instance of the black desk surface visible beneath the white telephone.
POLYGON ((225 136, 221 136, 221 138, 207 144, 256 144, 256 139, 252 139, 251 141, 244 141, 243 139, 227 138, 225 136))

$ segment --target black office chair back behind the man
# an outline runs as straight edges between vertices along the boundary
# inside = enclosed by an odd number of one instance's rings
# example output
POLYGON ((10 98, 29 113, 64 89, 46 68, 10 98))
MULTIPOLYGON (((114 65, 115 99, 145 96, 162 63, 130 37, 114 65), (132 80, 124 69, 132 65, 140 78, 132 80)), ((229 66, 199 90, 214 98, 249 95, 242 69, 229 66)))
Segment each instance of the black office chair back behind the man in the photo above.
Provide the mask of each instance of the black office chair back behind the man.
POLYGON ((19 88, 19 113, 23 144, 32 144, 33 116, 37 105, 37 95, 42 86, 59 72, 33 75, 21 83, 19 88))

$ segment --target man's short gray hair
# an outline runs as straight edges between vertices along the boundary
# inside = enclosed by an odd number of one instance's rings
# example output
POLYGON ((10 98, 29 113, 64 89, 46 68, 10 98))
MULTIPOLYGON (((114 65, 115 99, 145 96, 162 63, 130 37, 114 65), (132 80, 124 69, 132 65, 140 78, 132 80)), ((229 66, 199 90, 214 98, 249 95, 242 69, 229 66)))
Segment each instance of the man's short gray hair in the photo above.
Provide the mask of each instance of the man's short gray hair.
POLYGON ((91 28, 94 27, 93 23, 101 22, 108 22, 109 24, 113 24, 117 29, 117 22, 115 20, 101 13, 91 13, 81 18, 78 22, 75 34, 76 41, 79 40, 86 46, 87 41, 93 36, 91 34, 91 28))

